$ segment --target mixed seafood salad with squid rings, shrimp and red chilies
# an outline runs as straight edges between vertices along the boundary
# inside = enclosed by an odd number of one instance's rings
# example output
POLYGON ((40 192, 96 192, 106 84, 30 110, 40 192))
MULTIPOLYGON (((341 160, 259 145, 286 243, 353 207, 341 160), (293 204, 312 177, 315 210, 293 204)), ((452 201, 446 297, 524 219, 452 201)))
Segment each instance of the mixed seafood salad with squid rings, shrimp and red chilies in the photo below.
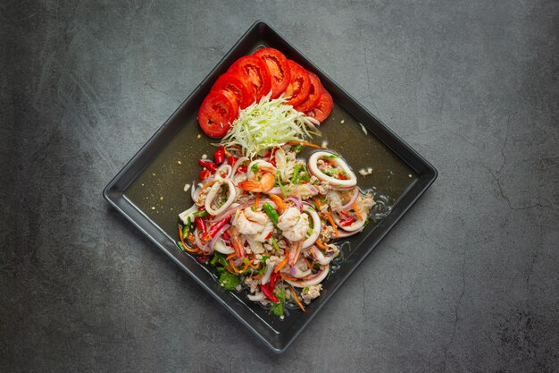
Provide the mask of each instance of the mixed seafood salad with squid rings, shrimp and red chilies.
POLYGON ((193 182, 194 204, 179 214, 179 248, 216 267, 218 282, 248 292, 283 318, 286 305, 321 295, 336 242, 359 233, 374 205, 336 152, 303 140, 246 157, 243 147, 221 145, 214 162, 193 182), (298 157, 313 147, 310 157, 298 157))

